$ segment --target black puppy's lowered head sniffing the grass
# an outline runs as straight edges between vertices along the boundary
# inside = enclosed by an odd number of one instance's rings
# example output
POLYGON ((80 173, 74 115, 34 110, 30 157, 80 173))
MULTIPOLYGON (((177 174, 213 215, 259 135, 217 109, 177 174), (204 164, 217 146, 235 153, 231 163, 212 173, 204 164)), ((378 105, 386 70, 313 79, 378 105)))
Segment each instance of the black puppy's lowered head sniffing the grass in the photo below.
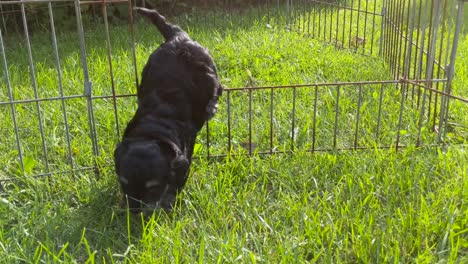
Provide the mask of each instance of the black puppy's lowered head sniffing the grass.
POLYGON ((132 212, 173 207, 188 173, 184 155, 155 140, 123 141, 115 149, 114 159, 132 212))

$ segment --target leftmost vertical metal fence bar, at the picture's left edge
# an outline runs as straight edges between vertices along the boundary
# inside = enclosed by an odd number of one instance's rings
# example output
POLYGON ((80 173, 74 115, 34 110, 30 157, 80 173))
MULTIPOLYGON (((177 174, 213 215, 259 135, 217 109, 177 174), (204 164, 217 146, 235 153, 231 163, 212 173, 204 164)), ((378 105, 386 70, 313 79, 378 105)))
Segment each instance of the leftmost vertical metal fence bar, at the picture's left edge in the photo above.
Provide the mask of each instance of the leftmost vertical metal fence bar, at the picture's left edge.
POLYGON ((3 70, 5 73, 5 79, 6 79, 6 86, 8 90, 8 100, 10 102, 10 107, 11 107, 11 118, 13 119, 13 126, 15 129, 15 137, 16 137, 16 148, 18 149, 18 159, 19 159, 19 165, 21 169, 21 173, 24 175, 24 162, 23 162, 23 150, 21 148, 21 143, 20 143, 20 137, 19 137, 19 132, 18 132, 18 123, 16 121, 16 107, 15 104, 13 104, 13 90, 11 88, 11 82, 10 82, 10 75, 8 72, 8 63, 6 60, 6 53, 5 53, 5 46, 3 44, 3 33, 2 30, 0 29, 0 51, 2 53, 2 61, 3 61, 3 70))

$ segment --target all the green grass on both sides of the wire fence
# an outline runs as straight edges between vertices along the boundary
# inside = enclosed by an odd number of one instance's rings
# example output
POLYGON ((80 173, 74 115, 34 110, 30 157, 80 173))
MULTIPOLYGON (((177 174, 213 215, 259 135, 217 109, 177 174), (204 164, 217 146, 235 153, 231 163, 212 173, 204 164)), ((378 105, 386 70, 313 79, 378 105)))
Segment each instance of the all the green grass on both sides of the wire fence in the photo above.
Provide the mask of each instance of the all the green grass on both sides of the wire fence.
MULTIPOLYGON (((255 10, 252 10, 255 13, 255 10)), ((188 28, 209 47, 227 87, 289 85, 391 79, 380 59, 337 50, 320 41, 286 31, 275 23, 244 14, 217 16, 217 26, 195 18, 188 28), (247 19, 246 19, 247 18, 247 19), (232 24, 231 24, 232 23, 232 24)), ((145 22, 136 26, 140 70, 161 41, 145 22)), ((184 23, 183 23, 184 24, 184 23)), ((184 24, 185 25, 185 24, 184 24)), ((103 27, 85 23, 87 59, 95 96, 112 94, 103 27)), ((113 71, 118 94, 135 92, 130 34, 125 25, 111 27, 113 71)), ((60 32, 59 51, 65 95, 83 94, 78 36, 60 32)), ((468 37, 460 42, 454 93, 468 97, 468 37)), ((376 40, 377 41, 377 40, 376 40)), ((15 100, 34 98, 27 51, 19 36, 5 40, 15 100)), ((53 49, 47 34, 31 37, 40 98, 60 96, 53 49)), ((8 101, 3 72, 0 102, 8 101)), ((9 105, 0 106, 2 141, 0 178, 0 263, 192 263, 192 262, 319 262, 319 263, 464 263, 468 261, 468 208, 464 145, 445 151, 415 148, 420 112, 404 101, 398 152, 374 148, 393 145, 401 94, 394 85, 363 85, 358 146, 367 151, 315 152, 314 87, 296 89, 294 155, 221 160, 196 159, 186 189, 174 212, 143 218, 118 206, 120 192, 112 168, 119 140, 111 99, 93 100, 100 174, 58 173, 50 177, 22 176, 9 105), (383 109, 376 136, 378 101, 383 109)), ((340 87, 337 148, 354 146, 359 86, 340 87)), ((252 92, 252 141, 255 151, 269 150, 270 126, 277 150, 291 148, 294 90, 273 94, 252 92)), ((317 91, 317 149, 333 147, 336 86, 317 91)), ((210 123, 210 154, 227 149, 227 93, 210 123)), ((231 92, 234 153, 248 141, 249 93, 231 92)), ((134 98, 117 100, 119 129, 136 108, 134 98)), ((17 104, 16 117, 25 174, 47 172, 42 153, 36 105, 17 104)), ((65 101, 71 146, 67 146, 61 101, 41 102, 50 171, 92 166, 85 98, 65 101)), ((467 105, 452 101, 449 139, 467 140, 467 105)), ((434 142, 425 117, 423 143, 434 142)), ((207 154, 206 130, 200 133, 197 155, 207 154)))

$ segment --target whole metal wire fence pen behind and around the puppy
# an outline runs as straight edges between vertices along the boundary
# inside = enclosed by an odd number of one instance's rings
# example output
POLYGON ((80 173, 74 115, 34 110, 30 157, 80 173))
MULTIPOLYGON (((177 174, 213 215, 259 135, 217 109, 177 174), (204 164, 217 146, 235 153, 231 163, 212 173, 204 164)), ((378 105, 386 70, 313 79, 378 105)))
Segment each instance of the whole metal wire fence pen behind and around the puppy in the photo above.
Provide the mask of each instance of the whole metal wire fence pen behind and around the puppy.
MULTIPOLYGON (((393 76, 388 80, 229 88, 215 120, 200 133, 196 155, 214 158, 454 143, 446 137, 448 130, 459 129, 449 124, 449 106, 468 105, 468 100, 453 95, 451 89, 462 2, 258 0, 239 7, 226 0, 211 3, 208 9, 201 6, 178 14, 172 18, 176 23, 210 25, 216 30, 258 21, 286 28, 369 60, 381 58, 393 76)), ((128 92, 139 78, 134 3, 23 0, 0 4, 5 5, 19 7, 9 10, 21 14, 23 32, 6 34, 6 25, 0 27, 0 160, 4 163, 0 181, 81 170, 99 172, 100 167, 110 165, 113 146, 135 105, 134 93, 128 92), (90 4, 99 4, 102 20, 87 23, 81 17, 82 6, 90 4), (119 49, 127 51, 125 58, 113 54, 116 45, 111 41, 108 4, 129 10, 125 44, 119 44, 119 49), (28 25, 33 22, 27 19, 28 5, 47 10, 49 22, 40 32, 50 37, 51 46, 43 53, 53 67, 34 59, 43 54, 31 43, 28 25), (75 39, 64 39, 58 37, 60 25, 54 10, 70 5, 76 30, 67 38, 75 39), (103 25, 100 41, 85 34, 96 28, 95 23, 103 25), (74 48, 61 49, 61 41, 74 48), (101 61, 106 65, 105 76, 94 75, 95 65, 89 62, 90 58, 96 61, 99 47, 105 50, 98 56, 105 61, 101 61), (17 63, 10 56, 16 49, 24 52, 26 63, 17 63), (64 60, 80 68, 79 74, 63 68, 64 60), (27 65, 29 81, 15 74, 24 70, 21 65, 27 65), (47 77, 41 74, 38 79, 38 68, 48 71, 47 77), (116 75, 116 70, 126 74, 116 75), (102 82, 106 83, 104 89, 96 85, 102 82), (55 89, 44 90, 47 85, 55 89)))

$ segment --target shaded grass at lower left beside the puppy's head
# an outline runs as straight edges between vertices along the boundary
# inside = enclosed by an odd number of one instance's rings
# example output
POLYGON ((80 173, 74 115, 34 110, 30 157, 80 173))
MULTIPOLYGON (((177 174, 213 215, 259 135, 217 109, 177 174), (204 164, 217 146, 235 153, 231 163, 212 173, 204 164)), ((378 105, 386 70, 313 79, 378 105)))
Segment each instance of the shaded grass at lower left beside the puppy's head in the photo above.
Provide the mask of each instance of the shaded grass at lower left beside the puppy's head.
MULTIPOLYGON (((0 229, 9 261, 112 260, 138 247, 148 217, 119 207, 112 173, 24 179, 4 184, 0 229)), ((156 222, 171 215, 157 212, 156 222)), ((154 224, 154 223, 153 223, 154 224)), ((157 224, 157 223, 156 223, 157 224)), ((11 263, 11 262, 10 262, 11 263)))

